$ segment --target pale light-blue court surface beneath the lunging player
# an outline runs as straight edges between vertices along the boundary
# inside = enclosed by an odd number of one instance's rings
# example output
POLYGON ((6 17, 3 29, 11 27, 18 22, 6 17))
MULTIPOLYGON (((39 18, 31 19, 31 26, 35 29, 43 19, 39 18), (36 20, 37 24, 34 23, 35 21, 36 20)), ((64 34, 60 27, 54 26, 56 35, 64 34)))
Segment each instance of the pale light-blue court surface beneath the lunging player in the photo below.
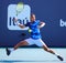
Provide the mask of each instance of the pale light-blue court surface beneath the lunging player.
MULTIPOLYGON (((12 48, 11 48, 12 49, 12 48)), ((10 56, 6 54, 6 49, 0 48, 0 63, 66 63, 66 49, 53 49, 59 53, 64 61, 59 61, 55 55, 45 52, 43 49, 18 49, 10 56)))

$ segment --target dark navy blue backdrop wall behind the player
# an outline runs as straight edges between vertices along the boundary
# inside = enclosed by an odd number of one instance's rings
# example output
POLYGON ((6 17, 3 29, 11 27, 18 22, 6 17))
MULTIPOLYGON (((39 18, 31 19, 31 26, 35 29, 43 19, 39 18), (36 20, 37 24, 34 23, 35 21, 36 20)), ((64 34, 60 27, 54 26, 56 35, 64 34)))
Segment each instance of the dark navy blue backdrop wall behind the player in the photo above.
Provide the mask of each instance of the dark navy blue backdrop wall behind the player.
POLYGON ((29 4, 36 19, 46 23, 41 34, 48 46, 66 46, 66 0, 0 0, 0 46, 13 46, 30 36, 25 30, 9 30, 7 27, 8 6, 20 1, 29 4))

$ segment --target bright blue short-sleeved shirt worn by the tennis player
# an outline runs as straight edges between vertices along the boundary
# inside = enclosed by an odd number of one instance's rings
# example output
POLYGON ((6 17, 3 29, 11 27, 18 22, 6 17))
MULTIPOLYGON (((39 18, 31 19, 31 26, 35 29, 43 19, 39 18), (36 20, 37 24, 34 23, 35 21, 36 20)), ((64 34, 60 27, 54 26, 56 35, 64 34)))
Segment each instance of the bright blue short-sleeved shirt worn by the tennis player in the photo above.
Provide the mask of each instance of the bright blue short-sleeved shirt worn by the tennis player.
POLYGON ((40 20, 35 20, 34 22, 28 22, 25 24, 25 27, 29 27, 32 30, 31 38, 34 40, 41 39, 40 29, 37 28, 38 24, 40 24, 40 20))

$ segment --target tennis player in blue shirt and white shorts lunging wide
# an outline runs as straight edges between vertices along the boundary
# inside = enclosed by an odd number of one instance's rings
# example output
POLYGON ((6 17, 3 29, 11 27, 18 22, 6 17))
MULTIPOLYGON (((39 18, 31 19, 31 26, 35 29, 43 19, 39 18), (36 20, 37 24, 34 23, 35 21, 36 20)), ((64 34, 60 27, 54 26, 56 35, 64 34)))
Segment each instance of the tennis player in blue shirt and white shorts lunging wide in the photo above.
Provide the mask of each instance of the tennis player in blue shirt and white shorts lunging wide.
MULTIPOLYGON (((15 19, 14 21, 16 22, 18 19, 15 19)), ((18 23, 18 22, 16 22, 16 24, 22 29, 25 27, 29 27, 31 29, 31 36, 29 39, 20 41, 16 45, 14 45, 13 49, 7 48, 6 49, 7 55, 10 55, 10 53, 12 51, 16 50, 19 46, 36 44, 37 46, 43 48, 46 52, 50 52, 50 53, 54 54, 55 56, 57 56, 61 61, 64 60, 59 54, 55 53, 52 49, 47 48, 47 45, 42 41, 40 29, 45 25, 45 22, 41 22, 40 20, 36 20, 35 14, 31 14, 31 22, 28 22, 24 25, 21 23, 18 23)))

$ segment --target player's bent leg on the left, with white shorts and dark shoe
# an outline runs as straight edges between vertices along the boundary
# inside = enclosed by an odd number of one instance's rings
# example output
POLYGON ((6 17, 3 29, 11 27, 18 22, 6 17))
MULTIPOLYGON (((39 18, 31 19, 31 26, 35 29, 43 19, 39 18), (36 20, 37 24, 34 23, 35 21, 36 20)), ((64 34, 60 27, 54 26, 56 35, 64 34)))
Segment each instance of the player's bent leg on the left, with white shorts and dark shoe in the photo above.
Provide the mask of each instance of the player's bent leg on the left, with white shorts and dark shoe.
POLYGON ((16 45, 14 45, 14 48, 13 49, 6 49, 6 51, 7 51, 7 55, 10 55, 10 53, 12 52, 12 51, 14 51, 14 50, 16 50, 18 48, 20 48, 20 46, 24 46, 24 45, 32 45, 32 44, 34 44, 33 43, 33 40, 30 38, 30 39, 26 39, 26 40, 24 40, 24 41, 21 41, 21 42, 19 42, 16 45))

